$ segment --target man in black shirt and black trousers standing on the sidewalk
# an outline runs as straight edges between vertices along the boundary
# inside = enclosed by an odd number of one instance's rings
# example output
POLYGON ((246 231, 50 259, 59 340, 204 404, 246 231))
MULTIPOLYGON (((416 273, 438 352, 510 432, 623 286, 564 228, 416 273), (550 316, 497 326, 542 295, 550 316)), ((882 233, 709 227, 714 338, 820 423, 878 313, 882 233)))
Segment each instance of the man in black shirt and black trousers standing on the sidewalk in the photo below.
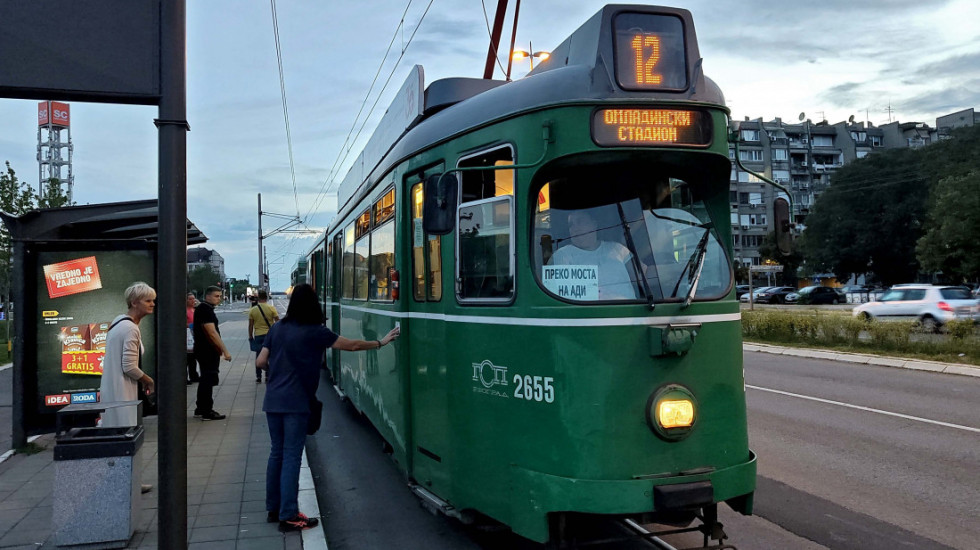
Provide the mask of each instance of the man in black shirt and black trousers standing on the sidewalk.
POLYGON ((218 366, 221 358, 231 361, 231 353, 221 341, 218 316, 214 306, 221 303, 221 289, 209 286, 204 301, 194 310, 194 357, 201 366, 201 381, 197 386, 197 407, 194 416, 202 420, 221 420, 225 415, 214 410, 212 391, 218 385, 218 366))

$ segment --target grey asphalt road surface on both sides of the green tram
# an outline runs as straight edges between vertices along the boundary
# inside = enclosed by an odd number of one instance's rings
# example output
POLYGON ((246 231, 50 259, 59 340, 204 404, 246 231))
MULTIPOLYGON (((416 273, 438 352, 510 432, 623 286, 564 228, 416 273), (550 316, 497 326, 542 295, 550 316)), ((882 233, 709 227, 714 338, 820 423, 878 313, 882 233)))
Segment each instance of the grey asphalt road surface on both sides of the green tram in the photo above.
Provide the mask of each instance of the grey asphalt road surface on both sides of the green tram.
MULTIPOLYGON (((980 378, 746 353, 756 515, 722 506, 739 550, 975 548, 980 378)), ((533 548, 417 506, 362 417, 325 398, 311 441, 337 548, 533 548)), ((700 537, 668 537, 677 547, 700 537)))

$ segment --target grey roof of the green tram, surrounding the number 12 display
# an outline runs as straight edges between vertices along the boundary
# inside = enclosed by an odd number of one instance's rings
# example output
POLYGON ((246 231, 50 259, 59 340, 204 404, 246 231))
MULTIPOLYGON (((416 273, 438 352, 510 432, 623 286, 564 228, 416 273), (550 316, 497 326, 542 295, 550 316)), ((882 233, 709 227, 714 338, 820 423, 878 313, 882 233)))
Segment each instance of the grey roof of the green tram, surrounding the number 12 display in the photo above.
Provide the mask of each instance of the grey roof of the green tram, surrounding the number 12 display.
MULTIPOLYGON (((361 168, 365 177, 359 178, 356 189, 351 186, 353 191, 349 196, 340 197, 335 223, 342 222, 379 179, 405 158, 463 132, 520 113, 577 101, 695 101, 724 105, 721 89, 704 76, 701 61, 694 20, 688 10, 611 4, 599 10, 559 44, 551 57, 520 80, 437 80, 425 90, 421 116, 406 128, 373 169, 361 168), (614 74, 613 19, 621 13, 668 15, 682 21, 689 83, 686 89, 633 91, 618 85, 614 74)), ((392 104, 398 101, 396 97, 392 104)))

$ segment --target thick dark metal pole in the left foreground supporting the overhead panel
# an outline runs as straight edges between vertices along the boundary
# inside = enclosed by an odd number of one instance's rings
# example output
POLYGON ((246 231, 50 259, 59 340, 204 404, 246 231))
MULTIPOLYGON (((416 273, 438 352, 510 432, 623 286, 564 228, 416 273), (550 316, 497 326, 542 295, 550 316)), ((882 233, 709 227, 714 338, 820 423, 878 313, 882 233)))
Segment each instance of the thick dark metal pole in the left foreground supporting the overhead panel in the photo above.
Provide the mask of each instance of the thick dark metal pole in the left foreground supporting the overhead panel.
POLYGON ((159 547, 187 548, 187 385, 184 296, 187 281, 186 0, 160 5, 159 227, 157 254, 157 483, 159 547))

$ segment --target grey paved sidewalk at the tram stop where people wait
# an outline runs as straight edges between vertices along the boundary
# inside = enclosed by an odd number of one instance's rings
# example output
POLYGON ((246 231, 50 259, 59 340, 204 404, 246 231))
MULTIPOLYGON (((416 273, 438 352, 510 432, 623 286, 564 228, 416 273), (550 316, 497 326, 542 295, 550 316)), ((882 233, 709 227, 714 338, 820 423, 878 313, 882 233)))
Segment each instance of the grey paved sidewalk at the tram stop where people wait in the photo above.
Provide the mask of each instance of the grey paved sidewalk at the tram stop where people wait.
MULTIPOLYGON (((252 355, 245 338, 244 316, 221 323, 222 336, 233 354, 221 365, 215 388, 215 409, 225 420, 193 418, 197 385, 187 386, 187 530, 188 548, 209 550, 326 549, 322 527, 302 533, 280 533, 266 523, 265 469, 269 430, 262 398, 265 384, 256 384, 252 355)), ((156 487, 157 417, 144 419, 143 483, 156 487)), ((54 549, 54 436, 34 443, 37 454, 13 454, 0 463, 0 548, 54 549)), ((157 548, 156 490, 142 495, 143 514, 127 548, 157 548)), ((318 516, 313 477, 303 457, 300 508, 318 516)))

